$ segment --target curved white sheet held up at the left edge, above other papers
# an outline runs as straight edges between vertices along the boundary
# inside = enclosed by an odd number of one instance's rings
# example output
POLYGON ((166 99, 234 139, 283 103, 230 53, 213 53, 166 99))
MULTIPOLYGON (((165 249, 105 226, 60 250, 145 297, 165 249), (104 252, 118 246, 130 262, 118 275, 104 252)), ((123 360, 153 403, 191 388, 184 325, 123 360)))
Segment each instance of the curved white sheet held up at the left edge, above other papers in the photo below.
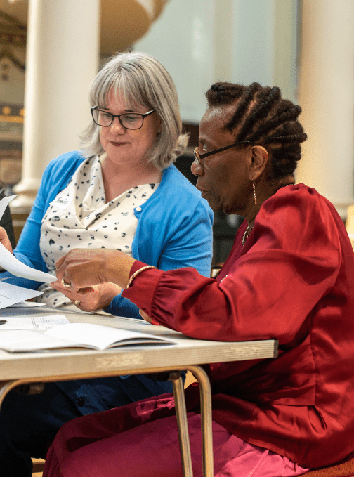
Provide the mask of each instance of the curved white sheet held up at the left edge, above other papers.
MULTIPOLYGON (((4 197, 4 199, 0 200, 0 218, 3 216, 8 203, 11 202, 14 197, 16 196, 11 195, 11 197, 4 197)), ((11 251, 8 251, 8 249, 6 249, 1 243, 0 266, 16 277, 27 278, 29 280, 34 280, 35 282, 51 283, 56 280, 53 275, 41 272, 40 270, 35 270, 16 259, 16 257, 11 254, 11 251)))

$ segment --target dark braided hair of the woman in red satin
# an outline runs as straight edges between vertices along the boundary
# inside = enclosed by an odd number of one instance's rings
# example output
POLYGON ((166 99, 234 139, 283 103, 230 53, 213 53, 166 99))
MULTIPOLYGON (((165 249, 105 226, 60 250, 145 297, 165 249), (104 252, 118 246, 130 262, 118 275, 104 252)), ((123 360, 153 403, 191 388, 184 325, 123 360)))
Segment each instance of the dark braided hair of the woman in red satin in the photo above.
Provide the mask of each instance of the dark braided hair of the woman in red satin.
POLYGON ((282 99, 277 86, 215 83, 205 96, 209 107, 235 103, 234 115, 225 129, 235 131, 235 142, 251 141, 271 153, 273 179, 294 173, 307 135, 297 119, 301 107, 282 99))

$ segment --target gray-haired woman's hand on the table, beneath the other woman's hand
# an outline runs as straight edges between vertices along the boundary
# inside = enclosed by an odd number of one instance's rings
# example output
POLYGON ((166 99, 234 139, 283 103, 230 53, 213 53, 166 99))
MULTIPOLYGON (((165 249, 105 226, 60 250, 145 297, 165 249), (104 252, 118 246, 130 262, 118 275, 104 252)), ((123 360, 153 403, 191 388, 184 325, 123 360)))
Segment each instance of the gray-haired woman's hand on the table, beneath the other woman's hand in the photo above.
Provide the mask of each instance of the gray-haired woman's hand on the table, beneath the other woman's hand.
POLYGON ((122 290, 121 287, 110 282, 87 287, 81 293, 71 292, 69 288, 63 287, 60 281, 53 282, 51 286, 65 294, 77 308, 83 311, 104 310, 110 305, 114 296, 122 290))

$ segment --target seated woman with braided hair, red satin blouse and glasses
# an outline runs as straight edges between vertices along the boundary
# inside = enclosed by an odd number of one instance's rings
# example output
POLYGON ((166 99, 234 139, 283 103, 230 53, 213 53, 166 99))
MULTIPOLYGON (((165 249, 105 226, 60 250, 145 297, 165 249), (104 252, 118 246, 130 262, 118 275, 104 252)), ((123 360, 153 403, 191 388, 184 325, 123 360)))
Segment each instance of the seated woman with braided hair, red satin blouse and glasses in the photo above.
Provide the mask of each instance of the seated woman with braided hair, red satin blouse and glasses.
MULTIPOLYGON (((246 219, 218 277, 149 268, 107 249, 70 251, 56 274, 79 293, 115 282, 147 321, 194 338, 277 339, 275 360, 206 367, 214 476, 299 476, 354 450, 353 250, 332 204, 295 184, 306 140, 300 107, 257 83, 214 84, 206 98, 192 164, 197 188, 213 209, 246 219)), ((199 477, 197 386, 186 400, 199 477)), ((179 477, 179 459, 173 396, 165 394, 65 424, 44 476, 179 477)))

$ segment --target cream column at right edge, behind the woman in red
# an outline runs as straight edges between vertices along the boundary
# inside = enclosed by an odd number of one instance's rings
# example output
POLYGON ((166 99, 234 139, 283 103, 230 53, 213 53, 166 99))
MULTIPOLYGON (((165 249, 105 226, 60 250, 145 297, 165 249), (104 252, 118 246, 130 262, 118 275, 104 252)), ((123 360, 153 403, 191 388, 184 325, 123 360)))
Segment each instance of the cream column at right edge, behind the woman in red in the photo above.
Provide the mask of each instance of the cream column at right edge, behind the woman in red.
POLYGON ((354 203, 354 2, 305 0, 299 104, 308 140, 297 182, 325 195, 346 218, 354 203))

